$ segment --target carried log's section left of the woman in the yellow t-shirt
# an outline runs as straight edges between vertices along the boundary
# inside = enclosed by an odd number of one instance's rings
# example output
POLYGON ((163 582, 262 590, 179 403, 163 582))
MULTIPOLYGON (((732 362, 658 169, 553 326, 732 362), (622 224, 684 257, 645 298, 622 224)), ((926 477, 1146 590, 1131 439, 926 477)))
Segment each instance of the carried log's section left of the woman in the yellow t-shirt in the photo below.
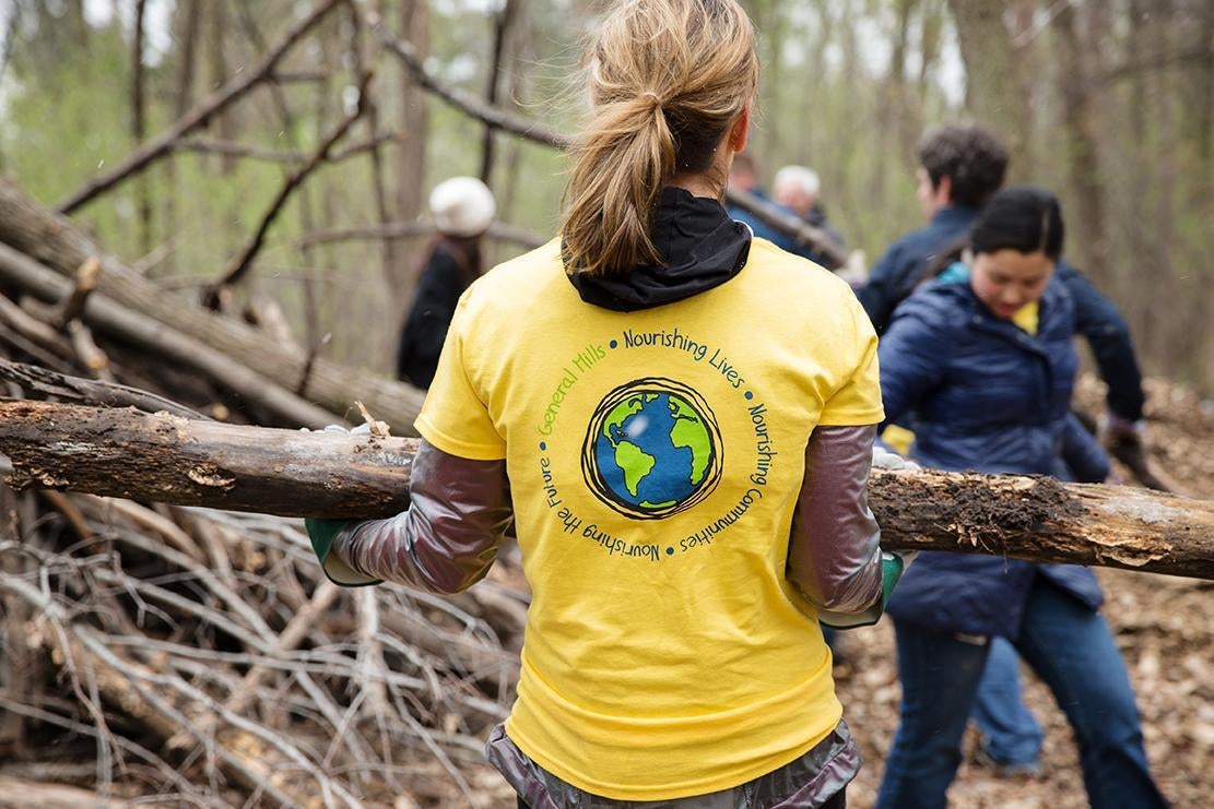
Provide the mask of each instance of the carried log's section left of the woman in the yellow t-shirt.
POLYGON ((0 401, 0 451, 46 489, 280 517, 405 508, 416 439, 0 401))

